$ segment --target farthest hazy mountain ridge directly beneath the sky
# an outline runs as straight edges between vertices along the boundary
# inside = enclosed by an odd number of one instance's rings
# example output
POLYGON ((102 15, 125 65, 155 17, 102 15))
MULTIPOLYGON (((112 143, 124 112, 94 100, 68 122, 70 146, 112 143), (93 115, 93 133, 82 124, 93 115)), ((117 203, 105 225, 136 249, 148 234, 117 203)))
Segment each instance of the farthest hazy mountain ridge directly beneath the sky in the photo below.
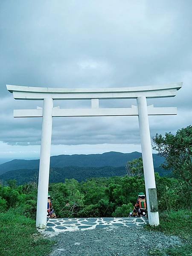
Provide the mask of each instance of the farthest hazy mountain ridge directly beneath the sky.
MULTIPOLYGON (((58 155, 52 156, 50 159, 51 168, 64 168, 67 166, 79 167, 122 167, 126 166, 128 161, 141 157, 140 152, 120 153, 120 152, 106 152, 103 154, 73 154, 73 155, 58 155)), ((154 167, 157 168, 164 162, 164 158, 158 154, 153 154, 154 167)), ((37 160, 12 160, 0 164, 0 175, 14 170, 21 169, 38 169, 39 159, 37 160)))

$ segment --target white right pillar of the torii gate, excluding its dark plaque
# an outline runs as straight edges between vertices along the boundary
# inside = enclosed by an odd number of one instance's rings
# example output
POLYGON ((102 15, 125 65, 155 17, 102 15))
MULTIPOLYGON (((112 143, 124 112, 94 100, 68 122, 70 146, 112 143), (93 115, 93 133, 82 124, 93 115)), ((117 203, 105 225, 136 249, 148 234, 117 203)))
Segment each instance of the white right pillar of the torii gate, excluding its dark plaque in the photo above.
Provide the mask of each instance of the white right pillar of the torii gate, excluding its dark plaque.
POLYGON ((147 198, 148 223, 153 226, 159 225, 159 212, 151 212, 149 189, 156 189, 154 177, 153 156, 151 150, 151 136, 148 122, 146 97, 137 98, 138 118, 140 126, 141 150, 145 178, 145 191, 147 198))

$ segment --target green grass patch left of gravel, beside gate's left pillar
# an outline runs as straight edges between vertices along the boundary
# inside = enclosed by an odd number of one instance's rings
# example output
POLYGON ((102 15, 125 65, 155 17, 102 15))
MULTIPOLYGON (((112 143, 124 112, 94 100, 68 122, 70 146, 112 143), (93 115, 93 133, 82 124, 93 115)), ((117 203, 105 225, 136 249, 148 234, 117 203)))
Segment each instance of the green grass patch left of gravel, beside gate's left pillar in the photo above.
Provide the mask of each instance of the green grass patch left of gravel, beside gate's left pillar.
POLYGON ((52 241, 35 229, 35 221, 20 215, 21 209, 0 213, 1 256, 44 256, 51 251, 52 241))

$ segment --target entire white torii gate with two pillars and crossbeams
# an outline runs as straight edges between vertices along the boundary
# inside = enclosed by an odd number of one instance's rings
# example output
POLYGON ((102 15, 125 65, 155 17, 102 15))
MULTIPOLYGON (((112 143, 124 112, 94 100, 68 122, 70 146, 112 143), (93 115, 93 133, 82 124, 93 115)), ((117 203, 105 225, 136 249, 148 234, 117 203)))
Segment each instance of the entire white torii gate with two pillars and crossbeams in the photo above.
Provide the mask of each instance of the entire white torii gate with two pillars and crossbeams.
POLYGON ((38 201, 36 227, 44 229, 47 224, 47 195, 49 185, 49 164, 54 116, 138 116, 141 148, 145 177, 145 190, 148 208, 148 222, 159 225, 157 192, 151 150, 151 137, 148 115, 176 115, 177 108, 154 108, 147 106, 146 99, 174 97, 182 87, 182 82, 163 86, 69 89, 6 85, 14 99, 43 100, 43 108, 14 110, 14 117, 43 117, 41 134, 41 153, 38 180, 38 201), (89 109, 53 108, 53 100, 90 99, 89 109), (99 108, 99 99, 137 99, 137 106, 131 108, 99 108))

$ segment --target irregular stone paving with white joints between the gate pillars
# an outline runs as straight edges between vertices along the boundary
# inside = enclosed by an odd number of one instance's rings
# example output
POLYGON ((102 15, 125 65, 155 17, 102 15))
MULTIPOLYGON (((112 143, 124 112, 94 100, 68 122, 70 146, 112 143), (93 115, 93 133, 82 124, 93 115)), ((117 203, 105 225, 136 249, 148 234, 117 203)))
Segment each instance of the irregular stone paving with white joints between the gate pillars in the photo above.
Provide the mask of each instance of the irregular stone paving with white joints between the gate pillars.
POLYGON ((101 229, 109 226, 119 227, 137 227, 147 224, 147 219, 140 218, 57 218, 47 221, 47 229, 49 232, 66 232, 79 230, 101 229))

